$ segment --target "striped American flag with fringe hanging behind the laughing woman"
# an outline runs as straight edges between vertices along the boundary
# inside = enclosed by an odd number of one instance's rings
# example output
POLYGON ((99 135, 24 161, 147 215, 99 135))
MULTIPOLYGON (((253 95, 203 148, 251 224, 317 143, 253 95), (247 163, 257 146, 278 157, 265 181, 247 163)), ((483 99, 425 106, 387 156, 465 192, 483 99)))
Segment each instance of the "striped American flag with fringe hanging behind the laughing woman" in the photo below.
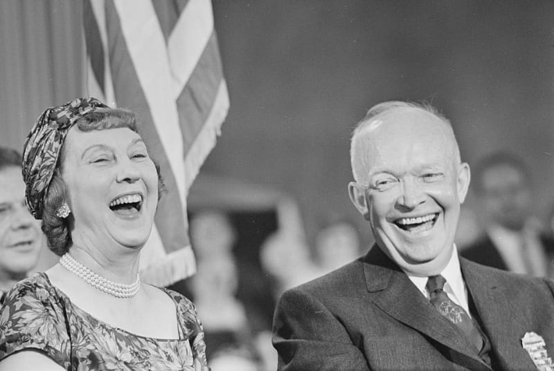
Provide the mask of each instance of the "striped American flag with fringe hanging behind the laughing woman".
POLYGON ((195 273, 186 196, 213 149, 229 95, 210 0, 84 0, 89 95, 142 123, 167 192, 141 252, 143 278, 195 273))

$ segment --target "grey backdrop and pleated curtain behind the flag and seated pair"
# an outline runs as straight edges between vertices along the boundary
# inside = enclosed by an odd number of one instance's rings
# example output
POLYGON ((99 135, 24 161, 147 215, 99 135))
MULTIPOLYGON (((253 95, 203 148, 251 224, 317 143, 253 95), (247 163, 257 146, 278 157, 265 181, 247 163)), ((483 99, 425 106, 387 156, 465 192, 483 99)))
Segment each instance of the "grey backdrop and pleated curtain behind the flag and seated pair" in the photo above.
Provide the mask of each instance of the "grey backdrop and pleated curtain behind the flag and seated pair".
MULTIPOLYGON (((388 99, 438 106, 470 164, 512 149, 532 167, 537 211, 554 201, 553 1, 213 6, 231 110, 202 173, 289 193, 309 237, 327 213, 345 213, 370 240, 346 193, 348 141, 388 99)), ((42 109, 84 91, 80 7, 0 2, 0 145, 20 149, 42 109), (52 44, 39 58, 24 51, 52 44)))

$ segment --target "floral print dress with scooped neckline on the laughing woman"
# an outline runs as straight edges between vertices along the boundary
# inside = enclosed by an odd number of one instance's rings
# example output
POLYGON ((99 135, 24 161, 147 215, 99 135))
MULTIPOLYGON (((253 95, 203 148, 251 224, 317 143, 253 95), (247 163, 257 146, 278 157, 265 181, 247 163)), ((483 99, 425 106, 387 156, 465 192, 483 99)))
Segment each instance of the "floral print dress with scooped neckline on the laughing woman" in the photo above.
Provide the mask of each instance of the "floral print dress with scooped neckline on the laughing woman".
POLYGON ((68 371, 208 370, 195 306, 177 292, 164 291, 177 307, 179 339, 112 327, 73 305, 46 274, 37 273, 17 283, 0 309, 0 360, 35 349, 68 371))

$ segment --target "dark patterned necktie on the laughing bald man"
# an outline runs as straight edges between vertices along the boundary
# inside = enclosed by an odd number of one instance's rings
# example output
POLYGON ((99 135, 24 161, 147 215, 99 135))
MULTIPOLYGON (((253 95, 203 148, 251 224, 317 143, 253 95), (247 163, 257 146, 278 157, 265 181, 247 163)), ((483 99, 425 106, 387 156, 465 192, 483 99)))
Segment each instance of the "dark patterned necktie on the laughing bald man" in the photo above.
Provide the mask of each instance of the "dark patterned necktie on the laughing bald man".
POLYGON ((443 287, 446 280, 443 276, 431 276, 425 288, 429 291, 429 300, 438 312, 454 323, 474 344, 478 351, 483 348, 483 336, 473 323, 472 318, 463 310, 463 307, 450 300, 443 287))

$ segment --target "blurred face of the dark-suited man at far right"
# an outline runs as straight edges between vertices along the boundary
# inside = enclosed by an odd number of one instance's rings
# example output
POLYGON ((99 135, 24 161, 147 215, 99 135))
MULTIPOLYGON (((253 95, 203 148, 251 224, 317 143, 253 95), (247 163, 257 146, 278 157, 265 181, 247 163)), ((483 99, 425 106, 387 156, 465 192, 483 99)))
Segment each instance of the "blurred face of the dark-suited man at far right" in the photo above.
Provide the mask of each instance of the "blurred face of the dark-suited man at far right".
POLYGON ((490 220, 515 231, 524 227, 533 203, 526 175, 510 164, 497 164, 481 176, 481 204, 490 220))

